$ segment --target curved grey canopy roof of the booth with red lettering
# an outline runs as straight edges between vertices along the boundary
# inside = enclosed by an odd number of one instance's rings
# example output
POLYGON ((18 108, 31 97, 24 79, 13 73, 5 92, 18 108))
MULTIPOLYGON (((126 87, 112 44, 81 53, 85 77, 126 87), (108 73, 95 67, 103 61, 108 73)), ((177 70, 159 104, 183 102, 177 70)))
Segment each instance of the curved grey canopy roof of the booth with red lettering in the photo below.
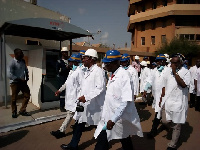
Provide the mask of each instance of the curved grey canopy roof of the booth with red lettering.
POLYGON ((49 18, 27 18, 7 21, 0 28, 0 33, 56 41, 92 36, 80 27, 49 18))

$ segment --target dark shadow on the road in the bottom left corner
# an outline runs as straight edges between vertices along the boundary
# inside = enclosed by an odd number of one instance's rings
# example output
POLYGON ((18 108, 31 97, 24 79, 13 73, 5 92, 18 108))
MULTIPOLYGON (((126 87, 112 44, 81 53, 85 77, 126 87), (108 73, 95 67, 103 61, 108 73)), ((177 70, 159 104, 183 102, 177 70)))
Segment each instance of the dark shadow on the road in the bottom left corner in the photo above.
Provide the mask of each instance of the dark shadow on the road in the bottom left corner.
POLYGON ((21 140, 28 134, 28 132, 29 132, 28 130, 22 130, 10 133, 8 135, 0 136, 0 148, 21 140))

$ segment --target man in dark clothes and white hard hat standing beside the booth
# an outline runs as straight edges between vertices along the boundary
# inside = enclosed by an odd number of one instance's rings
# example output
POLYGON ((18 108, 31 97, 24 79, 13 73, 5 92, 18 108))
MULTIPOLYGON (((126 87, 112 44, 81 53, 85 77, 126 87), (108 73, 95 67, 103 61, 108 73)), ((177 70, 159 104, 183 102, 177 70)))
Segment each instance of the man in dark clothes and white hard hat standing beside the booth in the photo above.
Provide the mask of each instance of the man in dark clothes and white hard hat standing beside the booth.
MULTIPOLYGON (((59 87, 61 87, 67 80, 68 74, 71 70, 71 67, 68 65, 68 49, 67 47, 62 47, 61 49, 61 59, 57 61, 56 72, 59 82, 59 87)), ((65 112, 65 90, 60 93, 60 111, 65 112)))

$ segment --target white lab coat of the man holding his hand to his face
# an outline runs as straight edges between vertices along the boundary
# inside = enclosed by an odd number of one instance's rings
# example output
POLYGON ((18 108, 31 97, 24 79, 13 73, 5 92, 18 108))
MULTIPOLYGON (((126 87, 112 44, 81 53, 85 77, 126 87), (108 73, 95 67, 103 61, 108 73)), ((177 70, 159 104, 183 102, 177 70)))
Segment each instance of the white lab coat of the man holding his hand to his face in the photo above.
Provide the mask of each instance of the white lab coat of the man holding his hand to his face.
POLYGON ((172 120, 174 123, 185 123, 188 109, 188 93, 190 84, 190 72, 182 67, 178 75, 183 79, 187 87, 182 88, 176 82, 172 69, 165 73, 165 96, 163 103, 165 104, 166 119, 172 120))

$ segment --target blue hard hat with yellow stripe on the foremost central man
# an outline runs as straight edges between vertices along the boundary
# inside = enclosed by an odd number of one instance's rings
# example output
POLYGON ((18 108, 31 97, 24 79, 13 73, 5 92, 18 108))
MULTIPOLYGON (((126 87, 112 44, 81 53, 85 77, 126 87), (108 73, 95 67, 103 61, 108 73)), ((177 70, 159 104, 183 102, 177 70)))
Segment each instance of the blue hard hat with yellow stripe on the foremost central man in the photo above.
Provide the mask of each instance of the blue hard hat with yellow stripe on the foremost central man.
POLYGON ((121 54, 118 50, 108 50, 105 54, 105 57, 102 59, 102 62, 113 62, 121 59, 121 54))

